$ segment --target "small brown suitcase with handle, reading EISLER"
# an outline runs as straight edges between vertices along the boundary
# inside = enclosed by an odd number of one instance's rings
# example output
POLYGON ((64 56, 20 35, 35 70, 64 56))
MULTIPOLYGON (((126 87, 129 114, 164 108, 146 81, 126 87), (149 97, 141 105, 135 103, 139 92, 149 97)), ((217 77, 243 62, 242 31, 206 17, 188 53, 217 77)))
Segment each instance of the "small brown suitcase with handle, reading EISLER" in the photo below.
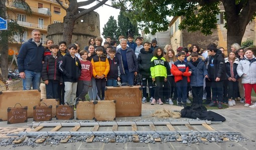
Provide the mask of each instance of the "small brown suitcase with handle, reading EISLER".
POLYGON ((7 109, 7 124, 28 122, 28 106, 16 103, 14 107, 7 109), (19 104, 21 107, 16 107, 19 104))

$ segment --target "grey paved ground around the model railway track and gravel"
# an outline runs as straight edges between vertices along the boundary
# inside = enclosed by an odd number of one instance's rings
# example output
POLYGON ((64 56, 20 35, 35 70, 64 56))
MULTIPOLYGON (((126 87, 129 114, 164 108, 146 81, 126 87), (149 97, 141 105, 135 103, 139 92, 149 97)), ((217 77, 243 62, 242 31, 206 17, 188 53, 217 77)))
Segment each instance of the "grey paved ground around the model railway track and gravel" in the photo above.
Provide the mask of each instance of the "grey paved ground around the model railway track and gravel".
MULTIPOLYGON (((255 99, 253 99, 255 100, 255 99)), ((150 120, 150 119, 159 119, 151 117, 151 114, 154 113, 156 109, 165 108, 168 110, 180 110, 181 107, 172 106, 168 104, 164 105, 150 105, 149 102, 143 104, 143 111, 141 117, 118 117, 116 120, 150 120)), ((199 144, 192 144, 188 146, 180 142, 167 142, 167 143, 101 143, 101 142, 76 142, 76 143, 61 143, 60 145, 46 145, 42 144, 37 149, 255 149, 256 148, 256 109, 244 107, 243 104, 237 102, 233 107, 226 109, 216 109, 213 110, 226 118, 221 124, 211 124, 217 130, 220 131, 237 131, 241 132, 244 137, 247 137, 248 140, 244 142, 205 142, 199 144)), ((186 118, 180 118, 179 120, 184 120, 186 118)), ((55 120, 55 119, 54 119, 55 120)), ((172 120, 172 119, 171 119, 172 120)), ((177 119, 175 119, 177 120, 177 119)), ((60 121, 60 120, 58 120, 60 121)), ((28 123, 32 123, 32 118, 29 119, 28 123)), ((17 124, 7 124, 7 121, 0 122, 1 127, 22 127, 26 126, 28 123, 17 123, 17 124)), ((12 148, 12 146, 0 147, 0 149, 35 149, 29 146, 22 146, 12 148)))

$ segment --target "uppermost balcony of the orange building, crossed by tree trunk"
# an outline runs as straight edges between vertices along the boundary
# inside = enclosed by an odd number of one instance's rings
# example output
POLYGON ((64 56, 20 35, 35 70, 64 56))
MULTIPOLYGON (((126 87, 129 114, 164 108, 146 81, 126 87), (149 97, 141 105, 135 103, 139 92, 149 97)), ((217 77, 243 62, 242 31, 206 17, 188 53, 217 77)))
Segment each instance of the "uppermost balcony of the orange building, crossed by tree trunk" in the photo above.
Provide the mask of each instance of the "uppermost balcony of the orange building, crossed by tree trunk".
MULTIPOLYGON (((25 9, 24 5, 19 4, 19 3, 7 2, 6 5, 10 6, 10 7, 25 9)), ((44 15, 49 15, 49 16, 52 15, 51 11, 49 11, 50 10, 49 8, 36 8, 36 7, 32 7, 32 6, 30 6, 30 8, 33 12, 37 12, 39 14, 44 14, 44 15)))

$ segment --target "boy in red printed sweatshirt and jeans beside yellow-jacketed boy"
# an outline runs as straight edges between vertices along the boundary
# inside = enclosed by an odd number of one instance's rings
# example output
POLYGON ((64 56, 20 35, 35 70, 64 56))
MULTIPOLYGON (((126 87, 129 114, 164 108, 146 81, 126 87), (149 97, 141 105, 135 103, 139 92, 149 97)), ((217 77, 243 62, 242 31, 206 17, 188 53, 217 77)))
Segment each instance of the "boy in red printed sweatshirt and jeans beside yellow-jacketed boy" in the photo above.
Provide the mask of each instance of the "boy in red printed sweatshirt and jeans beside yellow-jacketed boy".
POLYGON ((81 56, 81 75, 79 76, 77 89, 78 89, 78 97, 76 101, 85 100, 85 95, 88 93, 89 85, 92 77, 92 64, 87 60, 88 52, 86 50, 81 50, 79 52, 81 56))

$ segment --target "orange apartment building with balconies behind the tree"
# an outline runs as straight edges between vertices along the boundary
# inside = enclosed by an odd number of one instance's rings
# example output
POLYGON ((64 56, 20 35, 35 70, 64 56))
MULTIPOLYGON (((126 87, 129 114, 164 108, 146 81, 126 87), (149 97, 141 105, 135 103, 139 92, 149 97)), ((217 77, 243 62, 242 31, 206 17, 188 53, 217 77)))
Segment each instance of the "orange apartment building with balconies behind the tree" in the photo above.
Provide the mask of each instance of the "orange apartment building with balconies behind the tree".
MULTIPOLYGON (((65 7, 68 7, 68 0, 60 0, 65 7)), ((32 37, 32 30, 38 29, 41 32, 41 41, 46 43, 47 26, 52 23, 63 22, 66 11, 56 0, 26 0, 32 14, 25 12, 25 7, 15 0, 7 0, 7 18, 16 19, 21 26, 27 28, 23 36, 17 34, 14 39, 17 42, 10 42, 9 49, 19 52, 21 44, 32 37)))

